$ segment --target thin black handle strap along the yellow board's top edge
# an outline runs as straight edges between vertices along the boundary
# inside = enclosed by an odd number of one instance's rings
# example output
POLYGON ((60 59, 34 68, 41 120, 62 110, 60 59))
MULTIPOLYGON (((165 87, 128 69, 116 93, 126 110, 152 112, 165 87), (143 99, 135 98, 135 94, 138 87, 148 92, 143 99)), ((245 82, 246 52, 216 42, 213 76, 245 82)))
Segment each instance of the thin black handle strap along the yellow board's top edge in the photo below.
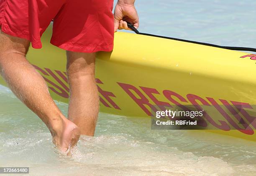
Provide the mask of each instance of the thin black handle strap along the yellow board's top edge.
POLYGON ((148 35, 148 36, 152 36, 152 37, 159 37, 159 38, 178 40, 178 41, 182 41, 182 42, 189 42, 189 43, 195 43, 195 44, 200 44, 200 45, 213 46, 213 47, 224 48, 224 49, 228 49, 228 50, 239 50, 239 51, 252 51, 252 52, 256 52, 256 48, 220 46, 220 45, 214 45, 214 44, 211 44, 211 43, 202 43, 202 42, 196 42, 196 41, 192 41, 192 40, 184 40, 184 39, 164 37, 164 36, 154 35, 154 34, 140 33, 131 23, 127 23, 127 25, 128 25, 128 28, 133 30, 136 34, 140 34, 140 35, 148 35))

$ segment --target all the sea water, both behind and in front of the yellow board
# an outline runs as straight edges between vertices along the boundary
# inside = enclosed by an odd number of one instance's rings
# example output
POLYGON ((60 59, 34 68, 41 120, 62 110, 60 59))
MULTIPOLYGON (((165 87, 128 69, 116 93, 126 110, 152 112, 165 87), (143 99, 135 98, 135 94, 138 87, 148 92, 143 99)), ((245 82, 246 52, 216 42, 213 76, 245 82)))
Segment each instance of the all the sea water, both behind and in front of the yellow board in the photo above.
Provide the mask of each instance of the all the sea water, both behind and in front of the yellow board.
MULTIPOLYGON (((255 48, 253 0, 138 0, 140 31, 255 48)), ((56 102, 67 114, 67 104, 56 102)), ((59 153, 46 126, 0 86, 0 167, 31 175, 213 175, 256 173, 256 143, 206 132, 155 131, 149 118, 99 114, 95 137, 82 136, 72 158, 59 153)))

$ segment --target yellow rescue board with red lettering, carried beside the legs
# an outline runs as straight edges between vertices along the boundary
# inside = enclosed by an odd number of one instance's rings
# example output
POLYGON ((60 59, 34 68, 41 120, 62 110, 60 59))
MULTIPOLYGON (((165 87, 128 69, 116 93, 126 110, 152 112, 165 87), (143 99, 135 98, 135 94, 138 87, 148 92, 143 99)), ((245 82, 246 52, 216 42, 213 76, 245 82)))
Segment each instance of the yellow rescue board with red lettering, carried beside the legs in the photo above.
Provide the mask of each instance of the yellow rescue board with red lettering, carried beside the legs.
MULTIPOLYGON (((68 103, 65 51, 50 38, 51 26, 27 58, 51 96, 68 103)), ((101 112, 151 117, 152 107, 204 105, 215 108, 201 119, 205 129, 256 141, 256 55, 124 32, 114 42, 113 52, 97 53, 101 112)))

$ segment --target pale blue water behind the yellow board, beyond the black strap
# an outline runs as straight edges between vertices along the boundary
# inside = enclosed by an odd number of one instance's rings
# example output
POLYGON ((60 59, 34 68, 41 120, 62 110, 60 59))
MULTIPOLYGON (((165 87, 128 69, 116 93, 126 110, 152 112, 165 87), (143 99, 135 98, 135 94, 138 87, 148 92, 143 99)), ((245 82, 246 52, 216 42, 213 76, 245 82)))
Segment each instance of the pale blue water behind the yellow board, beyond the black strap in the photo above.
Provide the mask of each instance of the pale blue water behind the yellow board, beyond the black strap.
POLYGON ((253 0, 139 0, 143 33, 255 48, 253 0))

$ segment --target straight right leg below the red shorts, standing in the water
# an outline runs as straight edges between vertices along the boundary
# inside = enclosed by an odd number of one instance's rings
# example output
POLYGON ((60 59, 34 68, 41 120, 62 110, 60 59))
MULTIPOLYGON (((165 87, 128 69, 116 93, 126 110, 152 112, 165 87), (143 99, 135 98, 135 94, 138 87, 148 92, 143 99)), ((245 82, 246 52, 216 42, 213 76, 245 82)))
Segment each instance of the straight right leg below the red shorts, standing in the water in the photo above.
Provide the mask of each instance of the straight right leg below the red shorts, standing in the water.
POLYGON ((99 96, 95 83, 95 53, 67 51, 67 75, 70 87, 68 118, 93 136, 99 113, 99 96))

